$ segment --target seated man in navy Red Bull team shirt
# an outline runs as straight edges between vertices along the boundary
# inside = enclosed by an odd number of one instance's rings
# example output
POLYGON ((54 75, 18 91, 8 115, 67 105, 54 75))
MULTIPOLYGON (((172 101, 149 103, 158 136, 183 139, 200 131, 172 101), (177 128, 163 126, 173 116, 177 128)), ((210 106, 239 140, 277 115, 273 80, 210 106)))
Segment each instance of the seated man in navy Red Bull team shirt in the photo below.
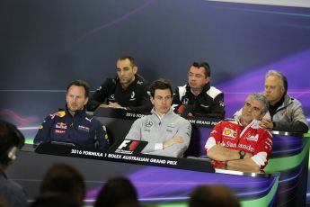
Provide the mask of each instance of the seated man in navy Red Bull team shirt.
POLYGON ((40 125, 33 143, 66 142, 83 148, 108 148, 108 135, 100 121, 85 111, 89 86, 75 80, 66 87, 66 109, 50 114, 40 125))

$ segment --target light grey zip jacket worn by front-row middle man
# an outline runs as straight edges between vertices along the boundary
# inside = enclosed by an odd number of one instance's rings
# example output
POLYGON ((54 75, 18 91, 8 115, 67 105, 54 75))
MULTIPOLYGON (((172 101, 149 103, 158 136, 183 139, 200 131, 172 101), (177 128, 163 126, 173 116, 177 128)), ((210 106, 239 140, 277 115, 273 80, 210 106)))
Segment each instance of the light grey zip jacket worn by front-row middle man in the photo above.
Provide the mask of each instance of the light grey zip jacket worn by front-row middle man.
POLYGON ((125 139, 148 141, 146 148, 142 150, 144 154, 183 157, 183 153, 190 145, 190 134, 190 121, 174 113, 172 108, 162 117, 153 108, 151 115, 139 118, 132 124, 125 139), (184 141, 163 148, 164 142, 175 136, 181 136, 184 141))

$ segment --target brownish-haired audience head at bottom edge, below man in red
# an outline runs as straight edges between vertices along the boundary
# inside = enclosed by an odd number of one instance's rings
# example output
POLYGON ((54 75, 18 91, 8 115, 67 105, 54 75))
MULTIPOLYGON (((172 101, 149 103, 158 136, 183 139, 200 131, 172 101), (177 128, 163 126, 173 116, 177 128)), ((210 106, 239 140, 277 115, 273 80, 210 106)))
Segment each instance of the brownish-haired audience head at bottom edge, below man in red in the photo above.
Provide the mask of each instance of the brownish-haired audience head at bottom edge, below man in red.
POLYGON ((200 185, 190 193, 189 207, 239 207, 240 202, 230 188, 223 185, 200 185))

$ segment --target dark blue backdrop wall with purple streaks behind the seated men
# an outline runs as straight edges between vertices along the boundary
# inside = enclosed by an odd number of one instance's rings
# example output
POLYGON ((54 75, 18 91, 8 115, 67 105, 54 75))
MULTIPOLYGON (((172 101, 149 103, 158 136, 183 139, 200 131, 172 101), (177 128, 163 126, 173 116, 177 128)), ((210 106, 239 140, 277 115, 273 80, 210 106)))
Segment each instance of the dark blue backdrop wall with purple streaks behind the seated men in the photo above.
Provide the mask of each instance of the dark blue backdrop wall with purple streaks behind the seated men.
POLYGON ((310 119, 310 8, 202 0, 2 0, 0 118, 31 142, 40 122, 65 105, 66 84, 94 91, 123 55, 138 73, 184 85, 193 61, 208 61, 225 93, 226 117, 264 75, 288 76, 288 94, 310 119))

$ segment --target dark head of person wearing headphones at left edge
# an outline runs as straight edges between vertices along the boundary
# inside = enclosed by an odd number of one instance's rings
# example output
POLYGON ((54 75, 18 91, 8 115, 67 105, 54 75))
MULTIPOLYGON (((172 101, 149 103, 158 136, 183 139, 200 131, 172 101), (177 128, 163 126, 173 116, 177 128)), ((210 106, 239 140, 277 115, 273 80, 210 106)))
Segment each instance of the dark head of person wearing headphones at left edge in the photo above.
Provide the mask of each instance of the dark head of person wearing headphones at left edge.
POLYGON ((18 130, 12 123, 0 121, 1 164, 8 165, 10 161, 15 158, 16 148, 22 148, 24 142, 25 138, 20 130, 18 130), (13 148, 15 150, 13 150, 13 148))

